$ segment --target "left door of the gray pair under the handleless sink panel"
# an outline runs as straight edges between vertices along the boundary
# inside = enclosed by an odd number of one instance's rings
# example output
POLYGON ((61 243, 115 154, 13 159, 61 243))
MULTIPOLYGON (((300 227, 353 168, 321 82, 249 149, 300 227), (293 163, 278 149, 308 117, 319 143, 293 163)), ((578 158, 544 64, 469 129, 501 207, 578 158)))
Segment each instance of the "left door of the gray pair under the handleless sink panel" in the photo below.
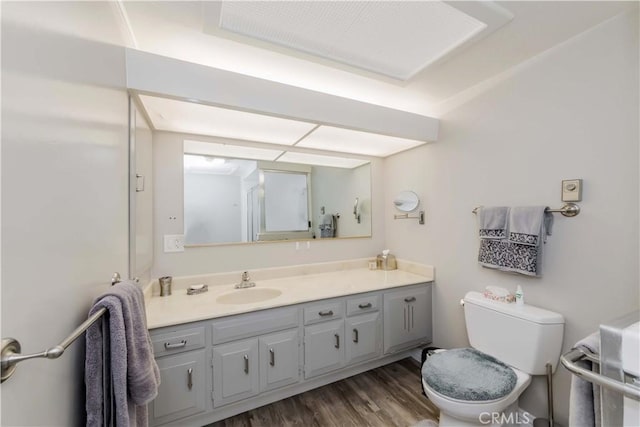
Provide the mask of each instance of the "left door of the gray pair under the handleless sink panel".
POLYGON ((235 341, 213 347, 213 406, 258 393, 258 340, 235 341))

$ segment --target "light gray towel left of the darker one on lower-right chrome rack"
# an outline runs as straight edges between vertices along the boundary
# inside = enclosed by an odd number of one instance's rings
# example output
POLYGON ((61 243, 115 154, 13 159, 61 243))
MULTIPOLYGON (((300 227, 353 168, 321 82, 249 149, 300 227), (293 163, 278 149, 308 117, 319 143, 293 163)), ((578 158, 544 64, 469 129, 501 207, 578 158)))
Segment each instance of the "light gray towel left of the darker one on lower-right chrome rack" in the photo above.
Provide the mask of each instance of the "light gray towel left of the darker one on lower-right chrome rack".
MULTIPOLYGON (((595 332, 578 341, 574 348, 586 348, 595 354, 600 354, 600 333, 595 332)), ((581 368, 598 371, 598 364, 588 360, 576 362, 581 368)), ((583 380, 577 375, 571 376, 571 394, 569 395, 569 426, 571 427, 600 427, 600 386, 583 380)))

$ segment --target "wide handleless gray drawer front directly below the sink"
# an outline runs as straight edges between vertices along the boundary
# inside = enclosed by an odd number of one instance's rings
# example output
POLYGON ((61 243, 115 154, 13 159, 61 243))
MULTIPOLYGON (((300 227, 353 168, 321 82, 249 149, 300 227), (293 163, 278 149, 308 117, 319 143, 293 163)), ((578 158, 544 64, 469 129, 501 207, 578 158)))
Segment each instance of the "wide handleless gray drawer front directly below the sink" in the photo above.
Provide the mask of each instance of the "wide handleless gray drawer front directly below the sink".
POLYGON ((298 312, 297 307, 276 308, 214 320, 211 328, 213 344, 297 328, 300 323, 298 312))

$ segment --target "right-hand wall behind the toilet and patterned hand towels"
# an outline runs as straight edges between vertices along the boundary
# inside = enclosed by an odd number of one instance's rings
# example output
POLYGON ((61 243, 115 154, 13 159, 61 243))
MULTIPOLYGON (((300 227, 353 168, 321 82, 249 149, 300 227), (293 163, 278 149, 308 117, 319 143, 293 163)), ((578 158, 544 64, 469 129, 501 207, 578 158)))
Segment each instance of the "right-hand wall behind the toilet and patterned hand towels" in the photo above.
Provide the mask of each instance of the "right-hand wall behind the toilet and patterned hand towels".
MULTIPOLYGON (((386 221, 385 236, 400 257, 436 266, 435 345, 468 345, 458 301, 486 285, 521 284, 528 303, 562 313, 563 351, 639 308, 638 47, 637 15, 606 22, 442 117, 438 142, 385 160, 386 217, 401 190, 426 208, 426 225, 386 221), (584 179, 582 212, 555 214, 544 277, 478 265, 475 206, 559 207, 570 178, 584 179)), ((558 368, 554 380, 556 417, 567 425, 570 375, 558 368)), ((521 400, 539 416, 543 384, 537 378, 521 400)))

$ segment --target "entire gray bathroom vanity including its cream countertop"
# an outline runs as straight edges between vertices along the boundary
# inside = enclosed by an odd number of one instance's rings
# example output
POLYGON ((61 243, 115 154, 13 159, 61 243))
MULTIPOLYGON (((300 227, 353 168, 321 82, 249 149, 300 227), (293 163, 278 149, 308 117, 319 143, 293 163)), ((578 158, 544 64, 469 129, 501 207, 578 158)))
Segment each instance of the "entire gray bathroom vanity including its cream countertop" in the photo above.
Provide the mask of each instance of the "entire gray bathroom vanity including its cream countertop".
POLYGON ((153 296, 161 385, 150 424, 201 426, 407 357, 431 342, 432 281, 349 269, 153 296), (237 303, 260 289, 280 293, 237 303))

